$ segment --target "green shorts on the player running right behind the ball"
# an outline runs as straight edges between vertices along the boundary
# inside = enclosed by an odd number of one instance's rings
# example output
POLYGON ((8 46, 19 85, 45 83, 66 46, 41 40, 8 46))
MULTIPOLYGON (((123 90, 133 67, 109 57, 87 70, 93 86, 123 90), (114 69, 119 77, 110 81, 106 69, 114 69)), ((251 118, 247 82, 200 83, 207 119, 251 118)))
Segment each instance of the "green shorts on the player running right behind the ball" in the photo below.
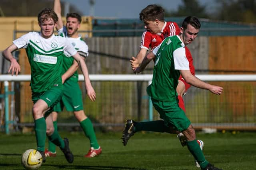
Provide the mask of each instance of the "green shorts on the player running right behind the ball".
POLYGON ((46 117, 53 111, 53 107, 60 101, 62 94, 63 86, 53 86, 46 92, 32 92, 32 101, 35 104, 39 99, 42 99, 47 103, 50 110, 46 111, 44 114, 46 117))

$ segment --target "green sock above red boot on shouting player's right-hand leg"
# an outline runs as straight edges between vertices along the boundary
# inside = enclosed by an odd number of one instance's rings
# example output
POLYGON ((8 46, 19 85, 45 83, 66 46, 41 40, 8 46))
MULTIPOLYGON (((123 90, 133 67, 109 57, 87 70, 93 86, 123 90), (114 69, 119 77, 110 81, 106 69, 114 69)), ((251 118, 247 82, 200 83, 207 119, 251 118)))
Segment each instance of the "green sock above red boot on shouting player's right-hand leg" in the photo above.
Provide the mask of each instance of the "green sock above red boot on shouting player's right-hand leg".
POLYGON ((96 135, 92 127, 92 122, 89 119, 89 117, 81 121, 80 126, 84 130, 85 136, 88 137, 88 139, 90 140, 90 147, 93 147, 94 149, 98 149, 100 145, 97 142, 96 135))

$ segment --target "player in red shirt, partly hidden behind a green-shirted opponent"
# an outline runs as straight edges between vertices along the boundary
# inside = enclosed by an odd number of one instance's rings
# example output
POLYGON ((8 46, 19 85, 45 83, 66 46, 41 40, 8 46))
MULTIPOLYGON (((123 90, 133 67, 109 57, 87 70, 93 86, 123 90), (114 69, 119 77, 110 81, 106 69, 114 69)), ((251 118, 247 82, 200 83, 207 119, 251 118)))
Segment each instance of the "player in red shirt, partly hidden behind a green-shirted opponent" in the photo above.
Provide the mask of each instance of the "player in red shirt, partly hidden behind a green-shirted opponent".
MULTIPOLYGON (((166 22, 164 20, 164 9, 156 4, 150 4, 146 8, 144 8, 140 12, 140 20, 144 22, 145 28, 147 30, 144 31, 144 33, 142 34, 140 51, 136 56, 136 59, 132 57, 133 67, 139 66, 143 58, 146 56, 149 48, 156 48, 166 37, 180 34, 180 27, 178 26, 178 24, 176 22, 166 22)), ((189 62, 190 72, 191 74, 195 75, 192 55, 188 47, 185 47, 185 50, 186 57, 189 62)), ((184 78, 180 76, 176 92, 178 93, 178 104, 180 108, 184 110, 184 112, 186 112, 186 110, 182 96, 186 94, 186 91, 190 87, 191 85, 186 83, 184 78)), ((177 137, 180 140, 181 145, 184 147, 186 145, 186 138, 184 137, 184 135, 182 133, 179 133, 177 137)), ((200 148, 203 149, 203 141, 197 140, 197 142, 200 145, 200 148)), ((198 162, 195 161, 195 163, 196 167, 200 168, 198 162)))

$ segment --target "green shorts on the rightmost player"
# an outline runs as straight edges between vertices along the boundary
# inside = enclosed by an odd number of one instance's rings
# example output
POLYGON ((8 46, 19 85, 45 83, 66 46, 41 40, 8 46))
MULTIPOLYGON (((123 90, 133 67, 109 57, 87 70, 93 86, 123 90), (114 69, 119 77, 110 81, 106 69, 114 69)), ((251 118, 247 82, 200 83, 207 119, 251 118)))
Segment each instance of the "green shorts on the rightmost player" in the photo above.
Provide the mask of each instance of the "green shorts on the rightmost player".
POLYGON ((152 104, 164 120, 166 126, 172 126, 175 130, 184 131, 191 124, 184 111, 178 106, 178 102, 163 102, 152 100, 152 104))

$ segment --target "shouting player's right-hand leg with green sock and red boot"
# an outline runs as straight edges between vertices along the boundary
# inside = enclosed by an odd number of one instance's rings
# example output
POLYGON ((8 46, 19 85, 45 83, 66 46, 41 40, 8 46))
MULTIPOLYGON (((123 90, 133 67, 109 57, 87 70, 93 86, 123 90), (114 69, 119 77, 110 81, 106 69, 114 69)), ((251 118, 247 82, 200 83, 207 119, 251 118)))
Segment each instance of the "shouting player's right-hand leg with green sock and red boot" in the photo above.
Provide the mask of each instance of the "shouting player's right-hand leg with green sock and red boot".
POLYGON ((74 115, 80 123, 80 126, 82 127, 85 136, 90 141, 90 150, 86 155, 84 155, 84 157, 91 158, 94 156, 98 156, 99 154, 101 154, 102 149, 98 144, 91 120, 84 114, 84 110, 74 111, 74 115))

